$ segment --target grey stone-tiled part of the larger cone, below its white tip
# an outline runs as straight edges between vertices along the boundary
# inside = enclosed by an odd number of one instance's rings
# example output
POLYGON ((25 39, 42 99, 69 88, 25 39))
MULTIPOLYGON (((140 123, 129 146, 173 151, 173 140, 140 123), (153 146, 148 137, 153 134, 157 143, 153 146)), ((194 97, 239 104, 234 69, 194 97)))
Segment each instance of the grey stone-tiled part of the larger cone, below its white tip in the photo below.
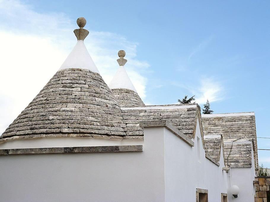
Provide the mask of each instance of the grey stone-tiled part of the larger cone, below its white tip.
POLYGON ((59 70, 1 135, 122 138, 126 124, 102 77, 90 70, 59 70))

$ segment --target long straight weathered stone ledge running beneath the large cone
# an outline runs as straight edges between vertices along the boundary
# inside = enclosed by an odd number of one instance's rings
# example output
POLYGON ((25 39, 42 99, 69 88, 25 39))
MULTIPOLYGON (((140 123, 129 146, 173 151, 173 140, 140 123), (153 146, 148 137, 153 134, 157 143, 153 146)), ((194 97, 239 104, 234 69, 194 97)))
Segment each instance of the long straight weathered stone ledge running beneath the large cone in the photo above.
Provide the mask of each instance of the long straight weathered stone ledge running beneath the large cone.
POLYGON ((143 151, 142 145, 0 149, 0 155, 143 151))

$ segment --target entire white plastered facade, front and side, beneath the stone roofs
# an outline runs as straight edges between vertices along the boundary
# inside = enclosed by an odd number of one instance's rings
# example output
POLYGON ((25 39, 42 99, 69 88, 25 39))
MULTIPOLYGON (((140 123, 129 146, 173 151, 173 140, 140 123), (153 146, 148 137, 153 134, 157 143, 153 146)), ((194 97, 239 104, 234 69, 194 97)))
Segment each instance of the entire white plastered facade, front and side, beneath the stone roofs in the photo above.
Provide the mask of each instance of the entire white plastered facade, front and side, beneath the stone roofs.
POLYGON ((196 201, 196 188, 201 188, 208 190, 208 201, 216 202, 232 183, 239 186, 240 193, 238 198, 228 193, 229 201, 254 201, 254 162, 252 168, 231 169, 230 180, 230 171, 222 170, 222 149, 220 166, 205 158, 199 127, 198 120, 194 146, 166 127, 145 127, 144 140, 36 138, 2 142, 0 149, 143 144, 143 151, 1 155, 1 200, 187 202, 196 201))

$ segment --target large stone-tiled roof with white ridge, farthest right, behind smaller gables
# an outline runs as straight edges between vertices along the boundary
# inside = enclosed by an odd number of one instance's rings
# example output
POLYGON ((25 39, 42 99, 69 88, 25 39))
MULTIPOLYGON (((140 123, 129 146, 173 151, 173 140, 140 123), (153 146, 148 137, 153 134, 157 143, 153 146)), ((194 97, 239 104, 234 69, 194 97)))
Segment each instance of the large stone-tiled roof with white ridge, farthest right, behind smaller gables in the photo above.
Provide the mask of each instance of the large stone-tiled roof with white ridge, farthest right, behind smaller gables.
MULTIPOLYGON (((253 139, 254 161, 257 167, 258 153, 254 112, 202 114, 202 127, 204 137, 206 135, 222 135, 224 141, 237 138, 253 139)), ((224 151, 228 152, 226 148, 224 151)), ((241 163, 239 162, 239 167, 242 166, 241 163)), ((236 164, 237 162, 235 162, 236 164)))

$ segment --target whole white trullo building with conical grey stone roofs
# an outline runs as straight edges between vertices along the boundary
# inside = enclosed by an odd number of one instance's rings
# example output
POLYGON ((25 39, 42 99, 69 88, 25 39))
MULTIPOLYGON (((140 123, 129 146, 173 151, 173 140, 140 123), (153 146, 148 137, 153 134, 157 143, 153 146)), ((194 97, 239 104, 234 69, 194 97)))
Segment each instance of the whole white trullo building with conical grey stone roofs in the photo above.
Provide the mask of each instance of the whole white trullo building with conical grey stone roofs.
POLYGON ((145 106, 125 52, 108 87, 77 23, 74 49, 0 137, 1 201, 254 201, 254 113, 145 106))

